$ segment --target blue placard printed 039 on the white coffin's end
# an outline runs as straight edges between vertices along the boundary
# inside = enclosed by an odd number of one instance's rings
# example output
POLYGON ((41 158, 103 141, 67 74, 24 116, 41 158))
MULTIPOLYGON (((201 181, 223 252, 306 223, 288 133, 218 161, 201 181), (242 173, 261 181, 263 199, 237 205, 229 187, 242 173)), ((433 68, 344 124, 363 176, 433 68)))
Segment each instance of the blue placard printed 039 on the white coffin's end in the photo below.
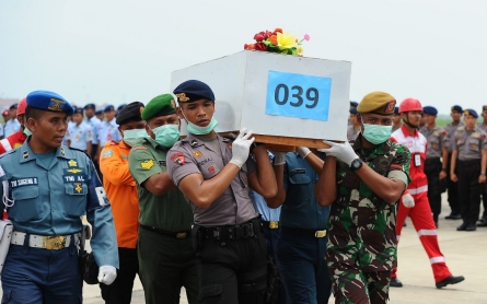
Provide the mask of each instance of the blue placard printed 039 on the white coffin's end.
POLYGON ((328 120, 332 79, 269 71, 266 114, 328 120))

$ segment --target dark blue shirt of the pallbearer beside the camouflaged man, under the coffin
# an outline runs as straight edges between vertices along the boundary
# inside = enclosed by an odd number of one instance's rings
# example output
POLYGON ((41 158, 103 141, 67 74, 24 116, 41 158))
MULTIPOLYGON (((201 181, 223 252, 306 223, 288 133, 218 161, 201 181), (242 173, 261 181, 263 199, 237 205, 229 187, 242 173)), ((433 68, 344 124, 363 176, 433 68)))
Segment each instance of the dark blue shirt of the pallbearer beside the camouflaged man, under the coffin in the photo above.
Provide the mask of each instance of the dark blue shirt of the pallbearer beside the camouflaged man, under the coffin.
POLYGON ((327 227, 329 207, 317 204, 313 194, 317 179, 318 175, 298 153, 286 154, 286 200, 280 213, 280 226, 309 230, 327 227))

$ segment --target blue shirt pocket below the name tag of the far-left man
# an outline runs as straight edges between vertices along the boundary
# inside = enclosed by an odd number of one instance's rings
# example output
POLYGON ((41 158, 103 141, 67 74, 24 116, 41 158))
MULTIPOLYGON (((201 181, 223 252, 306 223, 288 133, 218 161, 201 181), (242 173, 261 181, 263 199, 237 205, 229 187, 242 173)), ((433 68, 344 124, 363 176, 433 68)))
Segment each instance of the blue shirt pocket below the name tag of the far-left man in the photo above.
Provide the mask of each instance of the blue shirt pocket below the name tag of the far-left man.
POLYGON ((24 186, 12 189, 14 206, 10 209, 11 217, 20 222, 40 219, 40 202, 38 186, 24 186))

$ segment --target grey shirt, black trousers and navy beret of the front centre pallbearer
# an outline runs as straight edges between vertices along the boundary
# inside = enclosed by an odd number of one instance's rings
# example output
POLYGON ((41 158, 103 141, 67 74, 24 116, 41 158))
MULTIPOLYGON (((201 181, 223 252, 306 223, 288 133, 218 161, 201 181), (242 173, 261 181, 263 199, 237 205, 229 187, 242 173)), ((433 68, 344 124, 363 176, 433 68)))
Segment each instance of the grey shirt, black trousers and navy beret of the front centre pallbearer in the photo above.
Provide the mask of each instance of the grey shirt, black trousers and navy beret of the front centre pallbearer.
MULTIPOLYGON (((214 101, 211 89, 194 80, 179 84, 174 94, 179 103, 201 98, 214 101)), ((169 151, 167 173, 175 185, 193 173, 201 174, 207 180, 218 175, 231 159, 231 140, 219 135, 213 140, 202 140, 188 133, 169 151)), ((247 176, 255 171, 256 163, 248 157, 231 185, 210 207, 204 209, 188 201, 195 222, 192 235, 196 243, 202 302, 264 301, 266 243, 258 213, 248 198, 247 176)))

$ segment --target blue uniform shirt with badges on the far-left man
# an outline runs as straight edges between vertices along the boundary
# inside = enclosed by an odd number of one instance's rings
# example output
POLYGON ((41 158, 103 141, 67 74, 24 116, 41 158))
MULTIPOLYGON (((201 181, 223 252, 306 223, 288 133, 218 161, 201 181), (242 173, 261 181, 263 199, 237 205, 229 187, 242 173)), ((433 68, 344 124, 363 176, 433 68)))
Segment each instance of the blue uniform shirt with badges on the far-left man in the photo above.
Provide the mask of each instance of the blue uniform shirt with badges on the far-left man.
POLYGON ((112 208, 93 163, 85 153, 63 145, 53 155, 50 161, 43 162, 26 140, 19 149, 0 156, 4 172, 0 180, 10 187, 8 194, 0 187, 0 197, 13 200, 7 211, 14 230, 69 235, 81 232, 81 217, 86 214, 93 230, 90 245, 97 264, 118 268, 112 208))

